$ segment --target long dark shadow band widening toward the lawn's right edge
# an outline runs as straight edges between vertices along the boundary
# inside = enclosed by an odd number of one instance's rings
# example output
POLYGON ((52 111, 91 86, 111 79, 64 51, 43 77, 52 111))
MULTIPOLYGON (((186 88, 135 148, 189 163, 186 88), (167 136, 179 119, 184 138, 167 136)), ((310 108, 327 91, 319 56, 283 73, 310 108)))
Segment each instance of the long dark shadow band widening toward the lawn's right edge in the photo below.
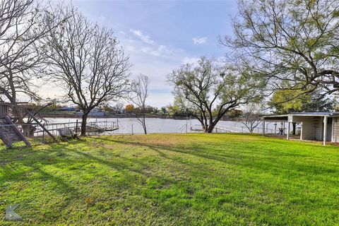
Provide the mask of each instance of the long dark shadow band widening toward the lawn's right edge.
MULTIPOLYGON (((227 165, 237 165, 246 167, 249 169, 258 169, 258 170, 265 170, 266 172, 276 172, 285 173, 290 172, 291 174, 295 174, 297 176, 304 176, 304 175, 320 175, 323 174, 331 174, 333 177, 339 176, 339 169, 337 165, 322 165, 319 162, 318 165, 314 164, 314 162, 305 162, 304 157, 310 157, 311 160, 314 158, 311 155, 305 154, 298 154, 298 153, 283 153, 279 151, 280 143, 277 145, 274 141, 270 141, 268 143, 273 143, 273 153, 271 152, 269 155, 267 154, 268 151, 265 150, 258 150, 255 144, 246 144, 246 155, 244 155, 242 151, 234 151, 230 150, 228 152, 222 151, 222 153, 215 155, 215 148, 203 148, 201 145, 192 145, 191 146, 170 146, 170 145, 155 145, 153 143, 141 143, 141 142, 133 142, 133 141, 120 141, 118 139, 109 139, 109 138, 101 138, 97 137, 94 138, 95 140, 102 140, 105 142, 112 142, 112 143, 121 143, 123 145, 138 145, 141 147, 147 147, 151 150, 155 150, 157 153, 160 154, 161 157, 165 157, 170 160, 179 161, 177 158, 169 158, 165 153, 162 153, 160 150, 167 150, 174 153, 180 153, 183 155, 191 155, 193 157, 201 157, 205 160, 213 160, 217 162, 222 162, 227 165), (274 151, 276 152, 274 153, 274 151), (254 155, 255 153, 260 153, 260 155, 254 155), (266 156, 266 154, 268 156, 266 156), (298 158, 300 161, 297 161, 298 158)), ((262 142, 262 141, 261 141, 262 142)), ((283 143, 283 147, 288 146, 288 142, 283 143)), ((300 148, 304 145, 304 143, 298 143, 297 146, 300 148)), ((269 147, 270 145, 268 145, 269 147)), ((242 146, 242 148, 244 148, 242 146)), ((222 149, 219 149, 222 150, 222 149)), ((219 151, 218 150, 218 151, 219 151)), ((338 157, 338 155, 337 155, 338 157)), ((319 158, 314 158, 314 160, 319 160, 319 158)), ((182 164, 185 164, 181 161, 182 164)), ((190 165, 191 166, 191 165, 190 165)))

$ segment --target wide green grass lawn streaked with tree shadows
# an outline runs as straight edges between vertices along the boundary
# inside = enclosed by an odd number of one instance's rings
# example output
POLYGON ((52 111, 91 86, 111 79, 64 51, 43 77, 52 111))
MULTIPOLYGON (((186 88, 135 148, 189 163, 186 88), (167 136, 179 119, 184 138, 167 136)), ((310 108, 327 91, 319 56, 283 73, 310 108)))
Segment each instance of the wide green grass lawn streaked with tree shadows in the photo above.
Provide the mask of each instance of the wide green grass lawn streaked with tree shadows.
POLYGON ((2 148, 1 213, 11 203, 18 225, 339 225, 339 147, 154 134, 2 148))

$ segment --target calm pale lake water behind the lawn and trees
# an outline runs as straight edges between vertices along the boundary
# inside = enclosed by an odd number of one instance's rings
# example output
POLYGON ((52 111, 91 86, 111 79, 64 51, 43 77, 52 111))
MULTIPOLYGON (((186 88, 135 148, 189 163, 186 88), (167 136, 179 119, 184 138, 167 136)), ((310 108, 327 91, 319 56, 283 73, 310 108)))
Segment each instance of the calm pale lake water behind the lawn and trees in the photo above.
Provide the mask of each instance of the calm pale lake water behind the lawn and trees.
MULTIPOLYGON (((74 118, 48 118, 49 123, 66 123, 76 121, 74 118)), ((81 121, 81 119, 78 119, 81 121)), ((131 134, 133 133, 143 133, 143 127, 141 124, 132 118, 105 118, 105 119, 88 119, 88 121, 117 121, 119 124, 119 129, 117 131, 110 131, 107 134, 131 134)), ((267 124, 269 129, 274 128, 274 123, 267 124)), ((196 132, 191 131, 191 128, 201 128, 200 123, 197 119, 188 119, 188 120, 179 120, 179 119, 146 119, 146 126, 148 133, 186 133, 187 132, 196 132)), ((220 121, 218 123, 219 128, 225 129, 232 132, 248 132, 244 128, 244 124, 237 121, 220 121)), ((261 126, 258 126, 261 127, 261 126)), ((255 132, 261 133, 261 129, 256 129, 255 132)))

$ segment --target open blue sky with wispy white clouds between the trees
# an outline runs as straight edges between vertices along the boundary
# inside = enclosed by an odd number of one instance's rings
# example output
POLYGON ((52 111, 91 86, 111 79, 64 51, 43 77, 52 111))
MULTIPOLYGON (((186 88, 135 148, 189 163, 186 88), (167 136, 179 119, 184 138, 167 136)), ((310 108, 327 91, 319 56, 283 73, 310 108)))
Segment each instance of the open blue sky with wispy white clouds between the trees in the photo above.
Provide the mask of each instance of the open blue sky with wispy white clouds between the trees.
MULTIPOLYGON (((143 73, 150 78, 147 104, 162 107, 173 103, 167 75, 201 56, 223 57, 219 36, 232 35, 236 1, 95 1, 73 0, 91 21, 114 30, 129 55, 131 78, 143 73)), ((42 93, 54 98, 49 85, 42 93)), ((114 105, 114 103, 113 103, 114 105)))

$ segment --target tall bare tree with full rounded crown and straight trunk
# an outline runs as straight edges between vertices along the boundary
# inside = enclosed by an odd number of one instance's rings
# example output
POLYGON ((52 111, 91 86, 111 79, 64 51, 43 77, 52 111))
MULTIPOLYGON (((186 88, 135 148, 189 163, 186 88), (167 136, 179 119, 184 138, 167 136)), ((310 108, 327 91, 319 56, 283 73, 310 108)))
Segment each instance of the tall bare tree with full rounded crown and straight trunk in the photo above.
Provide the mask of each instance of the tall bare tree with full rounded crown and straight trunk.
POLYGON ((128 90, 129 57, 112 30, 90 23, 72 6, 55 12, 61 18, 71 16, 45 40, 49 78, 64 89, 66 100, 83 111, 81 136, 85 136, 90 111, 128 90))

